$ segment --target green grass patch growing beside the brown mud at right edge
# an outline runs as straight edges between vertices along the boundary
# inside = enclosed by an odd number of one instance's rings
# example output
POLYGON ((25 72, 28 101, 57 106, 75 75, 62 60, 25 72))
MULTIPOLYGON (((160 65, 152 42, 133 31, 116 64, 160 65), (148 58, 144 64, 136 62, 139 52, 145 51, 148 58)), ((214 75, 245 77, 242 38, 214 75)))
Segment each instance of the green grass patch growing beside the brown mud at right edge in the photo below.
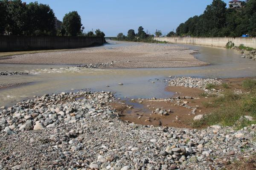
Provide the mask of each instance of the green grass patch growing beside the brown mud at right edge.
POLYGON ((256 82, 253 79, 245 80, 243 87, 250 93, 235 94, 226 89, 221 96, 203 102, 212 112, 203 119, 193 122, 193 127, 210 125, 234 126, 237 129, 256 123, 256 82), (253 121, 240 119, 241 116, 252 116, 253 121))

